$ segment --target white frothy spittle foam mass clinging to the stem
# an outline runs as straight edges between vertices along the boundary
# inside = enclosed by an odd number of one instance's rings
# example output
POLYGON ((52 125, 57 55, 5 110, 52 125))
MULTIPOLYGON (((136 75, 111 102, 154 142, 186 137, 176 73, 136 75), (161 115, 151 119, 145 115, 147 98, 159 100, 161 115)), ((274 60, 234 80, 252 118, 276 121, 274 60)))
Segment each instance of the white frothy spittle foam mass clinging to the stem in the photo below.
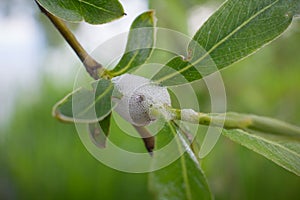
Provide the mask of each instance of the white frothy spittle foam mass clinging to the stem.
POLYGON ((156 120, 156 116, 150 114, 151 107, 171 105, 168 90, 149 79, 123 74, 112 81, 117 92, 123 95, 121 99, 113 99, 118 104, 115 111, 131 124, 146 126, 156 120))

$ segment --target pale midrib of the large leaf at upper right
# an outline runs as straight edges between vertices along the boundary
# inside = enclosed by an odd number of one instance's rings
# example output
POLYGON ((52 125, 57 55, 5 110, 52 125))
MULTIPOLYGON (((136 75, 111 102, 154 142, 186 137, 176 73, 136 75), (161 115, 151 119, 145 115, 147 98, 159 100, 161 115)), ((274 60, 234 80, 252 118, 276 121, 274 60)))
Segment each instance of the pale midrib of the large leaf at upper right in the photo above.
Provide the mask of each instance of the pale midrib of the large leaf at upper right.
MULTIPOLYGON (((273 3, 267 5, 266 7, 264 7, 263 9, 261 9, 260 11, 258 11, 257 13, 255 13, 254 15, 252 15, 248 20, 244 21, 240 26, 238 26, 236 29, 234 29, 231 33, 229 33, 226 37, 224 37, 222 40, 220 40, 218 43, 216 43, 210 50, 208 50, 202 57, 200 57, 198 60, 196 60, 193 64, 189 64, 186 67, 178 70, 177 72, 174 72, 168 76, 165 76, 159 80, 157 80, 156 82, 162 82, 165 80, 168 80, 174 76, 176 76, 178 73, 182 73, 186 70, 188 70, 189 68, 193 67, 193 65, 201 62, 203 59, 205 59, 207 56, 210 55, 211 52, 213 52, 216 48, 218 48, 220 45, 222 45, 224 42, 226 42, 226 40, 228 40, 231 36, 233 36, 236 32, 238 32, 241 28, 243 28, 244 26, 246 26, 247 24, 249 24, 253 19, 255 19, 258 15, 262 14, 263 12, 265 12, 266 10, 268 10, 269 8, 271 8, 273 5, 275 5, 276 3, 278 3, 279 0, 274 1, 273 3)), ((188 60, 187 60, 188 61, 188 60)))

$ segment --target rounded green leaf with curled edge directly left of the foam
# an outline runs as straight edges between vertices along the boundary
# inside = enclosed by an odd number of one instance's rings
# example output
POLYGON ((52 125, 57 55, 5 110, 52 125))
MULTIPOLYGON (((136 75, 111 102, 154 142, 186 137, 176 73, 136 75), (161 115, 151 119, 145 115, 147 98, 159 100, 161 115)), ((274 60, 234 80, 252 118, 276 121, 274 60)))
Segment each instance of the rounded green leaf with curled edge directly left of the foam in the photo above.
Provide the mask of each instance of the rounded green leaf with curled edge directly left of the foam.
POLYGON ((111 101, 113 89, 111 81, 106 79, 95 81, 91 89, 81 87, 59 101, 53 108, 53 115, 66 122, 98 122, 114 106, 111 101))

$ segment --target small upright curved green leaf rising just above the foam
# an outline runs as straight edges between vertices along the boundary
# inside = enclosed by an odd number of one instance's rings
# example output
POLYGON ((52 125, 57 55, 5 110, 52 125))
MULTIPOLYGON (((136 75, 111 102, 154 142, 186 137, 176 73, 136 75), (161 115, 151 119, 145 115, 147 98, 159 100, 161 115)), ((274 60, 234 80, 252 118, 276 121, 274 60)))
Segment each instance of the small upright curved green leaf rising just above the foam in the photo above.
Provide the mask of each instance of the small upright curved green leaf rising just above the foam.
POLYGON ((111 71, 113 76, 124 74, 148 60, 154 45, 154 27, 154 11, 142 13, 134 20, 130 27, 125 53, 111 71))

